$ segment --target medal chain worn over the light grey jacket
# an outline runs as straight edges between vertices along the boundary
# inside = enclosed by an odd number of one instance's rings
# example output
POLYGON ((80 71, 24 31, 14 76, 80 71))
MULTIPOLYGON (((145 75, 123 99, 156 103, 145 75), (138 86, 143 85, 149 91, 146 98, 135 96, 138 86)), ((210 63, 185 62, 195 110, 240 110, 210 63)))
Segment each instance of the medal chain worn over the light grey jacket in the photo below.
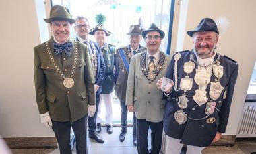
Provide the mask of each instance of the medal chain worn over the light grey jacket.
POLYGON ((158 66, 156 66, 154 70, 148 71, 148 69, 146 68, 146 54, 147 52, 143 52, 140 58, 141 70, 146 78, 153 82, 158 77, 158 74, 162 69, 162 66, 164 65, 165 55, 164 52, 160 52, 158 66))

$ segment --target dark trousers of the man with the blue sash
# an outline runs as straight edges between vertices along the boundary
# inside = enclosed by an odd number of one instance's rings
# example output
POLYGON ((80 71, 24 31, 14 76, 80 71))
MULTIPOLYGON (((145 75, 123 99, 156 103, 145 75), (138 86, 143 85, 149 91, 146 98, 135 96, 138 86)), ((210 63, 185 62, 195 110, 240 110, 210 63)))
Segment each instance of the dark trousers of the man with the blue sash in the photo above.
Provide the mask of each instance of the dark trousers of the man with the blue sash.
MULTIPOLYGON (((121 106, 121 127, 124 132, 127 131, 127 106, 125 102, 120 101, 121 106)), ((133 112, 133 135, 136 135, 136 116, 133 112)))

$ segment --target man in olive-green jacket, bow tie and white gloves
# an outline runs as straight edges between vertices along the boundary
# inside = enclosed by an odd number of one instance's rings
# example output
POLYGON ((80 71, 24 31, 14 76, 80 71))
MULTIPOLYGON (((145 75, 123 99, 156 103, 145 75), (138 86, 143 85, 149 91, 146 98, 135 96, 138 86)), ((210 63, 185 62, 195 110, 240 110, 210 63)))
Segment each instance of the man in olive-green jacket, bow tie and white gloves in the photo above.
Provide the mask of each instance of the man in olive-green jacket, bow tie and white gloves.
POLYGON ((53 37, 34 47, 34 82, 41 123, 52 127, 60 153, 72 153, 70 129, 77 153, 87 153, 87 118, 96 111, 94 76, 88 47, 70 40, 71 18, 66 7, 55 5, 50 17, 53 37))

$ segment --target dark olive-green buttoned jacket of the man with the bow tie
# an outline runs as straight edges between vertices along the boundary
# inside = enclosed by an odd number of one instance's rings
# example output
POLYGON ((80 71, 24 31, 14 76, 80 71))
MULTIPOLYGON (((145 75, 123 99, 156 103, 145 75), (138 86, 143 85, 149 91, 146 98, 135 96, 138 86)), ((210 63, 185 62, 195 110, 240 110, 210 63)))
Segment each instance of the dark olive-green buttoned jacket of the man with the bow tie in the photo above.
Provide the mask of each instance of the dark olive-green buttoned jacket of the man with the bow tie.
MULTIPOLYGON (((71 56, 67 56, 65 52, 54 55, 54 40, 51 38, 48 42, 57 66, 65 78, 70 77, 74 48, 71 56)), ((75 81, 74 86, 65 88, 63 78, 46 52, 46 42, 34 47, 34 82, 40 114, 49 111, 54 121, 76 121, 88 113, 88 104, 95 104, 92 63, 87 46, 80 42, 77 42, 77 64, 72 78, 75 81)))

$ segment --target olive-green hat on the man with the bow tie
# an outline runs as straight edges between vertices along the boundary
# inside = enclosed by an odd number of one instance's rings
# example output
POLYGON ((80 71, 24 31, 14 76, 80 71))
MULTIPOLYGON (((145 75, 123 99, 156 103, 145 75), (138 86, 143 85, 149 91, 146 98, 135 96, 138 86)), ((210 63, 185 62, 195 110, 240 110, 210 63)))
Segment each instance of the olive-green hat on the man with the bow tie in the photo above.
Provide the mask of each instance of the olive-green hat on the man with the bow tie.
POLYGON ((61 5, 53 6, 50 10, 50 17, 48 19, 44 19, 46 23, 51 23, 53 20, 69 21, 69 23, 75 23, 75 19, 72 19, 72 16, 69 13, 69 9, 61 5))

